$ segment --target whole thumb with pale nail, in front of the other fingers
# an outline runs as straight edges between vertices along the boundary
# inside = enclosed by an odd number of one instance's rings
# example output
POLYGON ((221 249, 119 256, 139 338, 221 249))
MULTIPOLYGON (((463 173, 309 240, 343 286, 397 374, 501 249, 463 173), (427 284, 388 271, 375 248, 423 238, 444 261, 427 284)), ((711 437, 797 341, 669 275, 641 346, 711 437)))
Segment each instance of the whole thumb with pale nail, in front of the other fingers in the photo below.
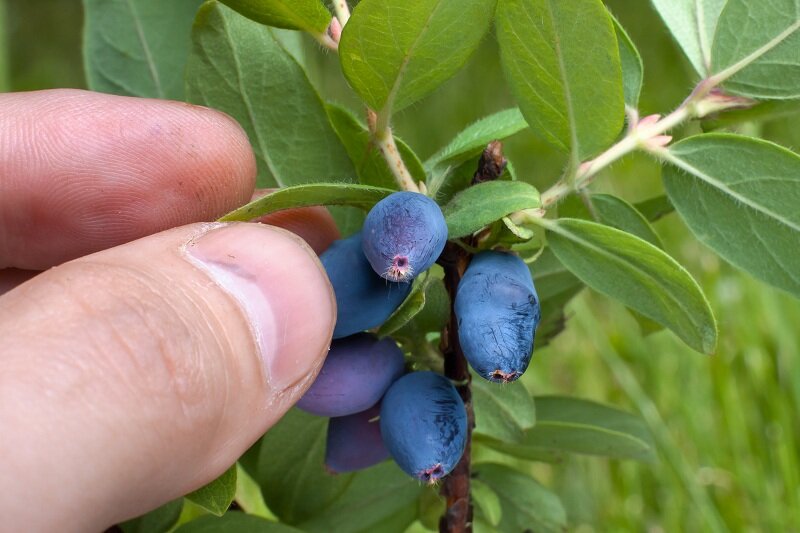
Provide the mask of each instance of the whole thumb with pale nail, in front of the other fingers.
POLYGON ((177 228, 7 293, 4 525, 99 530, 211 481, 310 385, 334 321, 313 252, 261 224, 177 228))

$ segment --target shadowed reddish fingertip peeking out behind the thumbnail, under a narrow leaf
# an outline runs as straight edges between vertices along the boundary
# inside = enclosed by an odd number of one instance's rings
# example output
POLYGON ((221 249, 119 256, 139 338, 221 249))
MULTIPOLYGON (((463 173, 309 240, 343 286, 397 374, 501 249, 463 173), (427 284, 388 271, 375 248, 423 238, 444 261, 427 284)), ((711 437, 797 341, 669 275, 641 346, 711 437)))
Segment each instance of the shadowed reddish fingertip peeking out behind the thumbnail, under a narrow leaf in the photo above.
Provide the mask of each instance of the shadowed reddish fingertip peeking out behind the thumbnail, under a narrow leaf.
MULTIPOLYGON (((261 198, 273 190, 257 189, 251 201, 261 198)), ((299 235, 317 255, 327 250, 333 241, 341 237, 331 212, 321 206, 286 209, 255 218, 253 222, 277 226, 299 235)))

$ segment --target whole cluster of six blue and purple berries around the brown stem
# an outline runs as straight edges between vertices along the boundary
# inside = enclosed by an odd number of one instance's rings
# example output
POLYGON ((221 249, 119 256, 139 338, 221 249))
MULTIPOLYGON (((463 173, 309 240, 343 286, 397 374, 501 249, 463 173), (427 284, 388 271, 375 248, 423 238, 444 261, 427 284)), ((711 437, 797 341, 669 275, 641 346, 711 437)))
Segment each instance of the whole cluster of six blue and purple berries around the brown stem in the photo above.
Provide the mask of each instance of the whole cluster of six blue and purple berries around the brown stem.
MULTIPOLYGON (((325 364, 297 406, 330 417, 329 470, 359 470, 391 456, 409 475, 433 482, 461 458, 467 413, 450 380, 429 371, 403 375, 397 344, 364 333, 400 306, 411 280, 433 265, 446 241, 439 206, 425 195, 397 192, 372 208, 361 232, 322 254, 338 317, 325 364)), ((521 259, 477 254, 458 286, 455 312, 464 355, 480 376, 509 382, 522 375, 540 311, 521 259)))

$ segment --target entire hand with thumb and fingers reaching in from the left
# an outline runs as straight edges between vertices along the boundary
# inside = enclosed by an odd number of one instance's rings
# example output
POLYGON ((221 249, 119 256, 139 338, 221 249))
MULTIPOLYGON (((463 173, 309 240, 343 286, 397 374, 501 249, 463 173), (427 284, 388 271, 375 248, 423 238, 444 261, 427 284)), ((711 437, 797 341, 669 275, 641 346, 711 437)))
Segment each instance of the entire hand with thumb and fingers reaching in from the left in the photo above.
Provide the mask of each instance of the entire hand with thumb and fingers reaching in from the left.
POLYGON ((3 528, 101 531, 197 489, 313 381, 338 233, 321 208, 204 222, 255 174, 211 109, 0 95, 3 528))

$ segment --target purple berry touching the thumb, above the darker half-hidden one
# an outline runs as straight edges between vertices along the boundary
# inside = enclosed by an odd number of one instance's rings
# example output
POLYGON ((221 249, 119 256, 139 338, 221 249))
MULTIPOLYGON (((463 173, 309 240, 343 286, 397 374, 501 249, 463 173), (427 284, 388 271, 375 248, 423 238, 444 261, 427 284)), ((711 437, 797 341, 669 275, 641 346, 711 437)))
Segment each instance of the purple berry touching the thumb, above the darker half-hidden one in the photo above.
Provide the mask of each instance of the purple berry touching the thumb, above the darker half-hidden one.
POLYGON ((403 374, 403 352, 388 337, 359 333, 331 344, 319 375, 297 407, 319 416, 369 409, 403 374))

